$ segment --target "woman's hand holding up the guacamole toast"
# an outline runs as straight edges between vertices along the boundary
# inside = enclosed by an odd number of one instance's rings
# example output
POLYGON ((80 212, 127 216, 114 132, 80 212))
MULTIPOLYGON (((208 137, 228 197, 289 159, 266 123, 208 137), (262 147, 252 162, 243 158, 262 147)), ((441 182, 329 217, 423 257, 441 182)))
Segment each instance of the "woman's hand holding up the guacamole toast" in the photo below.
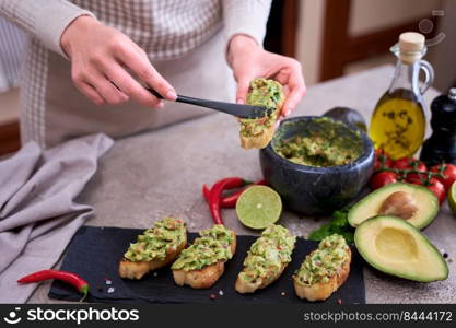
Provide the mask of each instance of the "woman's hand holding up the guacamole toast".
POLYGON ((305 94, 301 63, 290 57, 261 49, 246 35, 235 35, 227 54, 229 62, 237 81, 236 102, 244 104, 248 84, 255 78, 273 79, 284 86, 285 103, 281 116, 288 116, 305 94))

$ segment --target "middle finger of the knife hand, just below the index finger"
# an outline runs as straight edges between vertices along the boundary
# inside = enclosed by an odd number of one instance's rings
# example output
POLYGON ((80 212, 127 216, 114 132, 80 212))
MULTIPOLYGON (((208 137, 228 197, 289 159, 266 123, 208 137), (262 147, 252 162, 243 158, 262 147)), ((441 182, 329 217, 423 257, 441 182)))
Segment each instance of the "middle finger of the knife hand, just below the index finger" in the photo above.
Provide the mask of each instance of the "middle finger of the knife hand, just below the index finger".
POLYGON ((138 83, 119 63, 112 60, 104 67, 107 78, 122 93, 148 107, 163 107, 164 104, 138 83))

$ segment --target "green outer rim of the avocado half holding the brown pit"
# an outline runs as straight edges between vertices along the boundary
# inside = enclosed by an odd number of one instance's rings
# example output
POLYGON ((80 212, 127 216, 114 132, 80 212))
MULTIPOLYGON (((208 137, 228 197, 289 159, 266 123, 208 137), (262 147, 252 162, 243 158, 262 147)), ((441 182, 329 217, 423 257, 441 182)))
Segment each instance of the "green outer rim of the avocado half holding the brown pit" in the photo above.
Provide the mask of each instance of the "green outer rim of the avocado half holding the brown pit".
MULTIPOLYGON (((428 197, 434 199, 435 207, 432 208, 432 209, 429 209, 429 213, 425 216, 426 220, 423 220, 422 222, 420 222, 418 224, 416 223, 413 225, 414 227, 417 227, 419 230, 425 229, 428 225, 430 225, 434 221, 435 216, 437 215, 437 212, 439 212, 439 209, 440 209, 439 201, 437 201, 436 197, 434 196, 434 194, 432 194, 426 188, 424 188, 422 186, 405 184, 405 183, 395 183, 395 184, 386 185, 386 186, 384 186, 384 187, 382 187, 377 190, 372 191, 371 194, 366 195, 364 198, 359 200, 353 207, 351 207, 351 209, 348 213, 349 224, 353 227, 356 227, 356 223, 355 223, 356 218, 355 218, 354 213, 355 213, 356 210, 359 210, 360 207, 369 206, 370 200, 373 200, 377 195, 383 194, 383 191, 385 189, 390 189, 389 195, 391 195, 393 192, 398 191, 397 187, 401 187, 401 186, 406 186, 407 188, 411 188, 411 189, 419 189, 421 192, 424 192, 425 195, 428 195, 428 197)), ((361 224, 361 223, 359 223, 359 224, 361 224)))

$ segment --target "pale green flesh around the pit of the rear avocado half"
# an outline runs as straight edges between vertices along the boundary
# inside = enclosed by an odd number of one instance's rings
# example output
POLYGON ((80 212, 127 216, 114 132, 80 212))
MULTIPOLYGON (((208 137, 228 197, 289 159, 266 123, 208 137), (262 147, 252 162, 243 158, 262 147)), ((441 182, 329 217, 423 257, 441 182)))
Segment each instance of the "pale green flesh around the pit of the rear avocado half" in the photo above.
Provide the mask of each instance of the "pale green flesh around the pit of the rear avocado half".
POLYGON ((421 230, 435 219, 439 212, 439 199, 434 194, 422 186, 396 183, 386 185, 356 202, 348 213, 350 225, 356 227, 363 221, 381 214, 382 204, 391 194, 397 191, 409 194, 418 207, 416 213, 406 220, 408 223, 421 230))

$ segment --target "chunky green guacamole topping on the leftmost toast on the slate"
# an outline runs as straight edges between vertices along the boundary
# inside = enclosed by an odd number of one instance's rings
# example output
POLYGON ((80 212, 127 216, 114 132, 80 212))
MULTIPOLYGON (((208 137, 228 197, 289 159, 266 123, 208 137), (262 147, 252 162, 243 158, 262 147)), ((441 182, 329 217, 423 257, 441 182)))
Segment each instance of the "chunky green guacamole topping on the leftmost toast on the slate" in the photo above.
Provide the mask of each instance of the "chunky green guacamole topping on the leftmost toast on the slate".
POLYGON ((186 239, 186 233, 183 220, 164 218, 139 235, 124 257, 130 261, 164 260, 186 239))

